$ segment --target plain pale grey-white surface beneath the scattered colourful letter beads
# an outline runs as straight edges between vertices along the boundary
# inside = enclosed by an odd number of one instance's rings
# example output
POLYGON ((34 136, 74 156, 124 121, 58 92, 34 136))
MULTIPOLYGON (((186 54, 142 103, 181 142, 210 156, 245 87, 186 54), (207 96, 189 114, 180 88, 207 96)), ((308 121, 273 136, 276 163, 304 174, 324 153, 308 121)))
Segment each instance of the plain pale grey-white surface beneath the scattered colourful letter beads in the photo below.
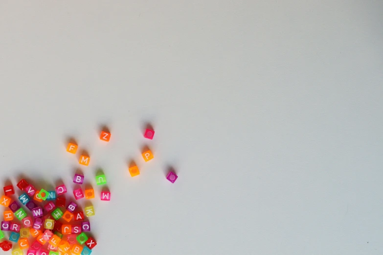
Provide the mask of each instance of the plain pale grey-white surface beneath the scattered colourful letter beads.
POLYGON ((2 0, 1 180, 71 187, 72 135, 90 152, 86 179, 101 166, 112 191, 93 201, 94 255, 382 254, 382 12, 381 0, 2 0))

